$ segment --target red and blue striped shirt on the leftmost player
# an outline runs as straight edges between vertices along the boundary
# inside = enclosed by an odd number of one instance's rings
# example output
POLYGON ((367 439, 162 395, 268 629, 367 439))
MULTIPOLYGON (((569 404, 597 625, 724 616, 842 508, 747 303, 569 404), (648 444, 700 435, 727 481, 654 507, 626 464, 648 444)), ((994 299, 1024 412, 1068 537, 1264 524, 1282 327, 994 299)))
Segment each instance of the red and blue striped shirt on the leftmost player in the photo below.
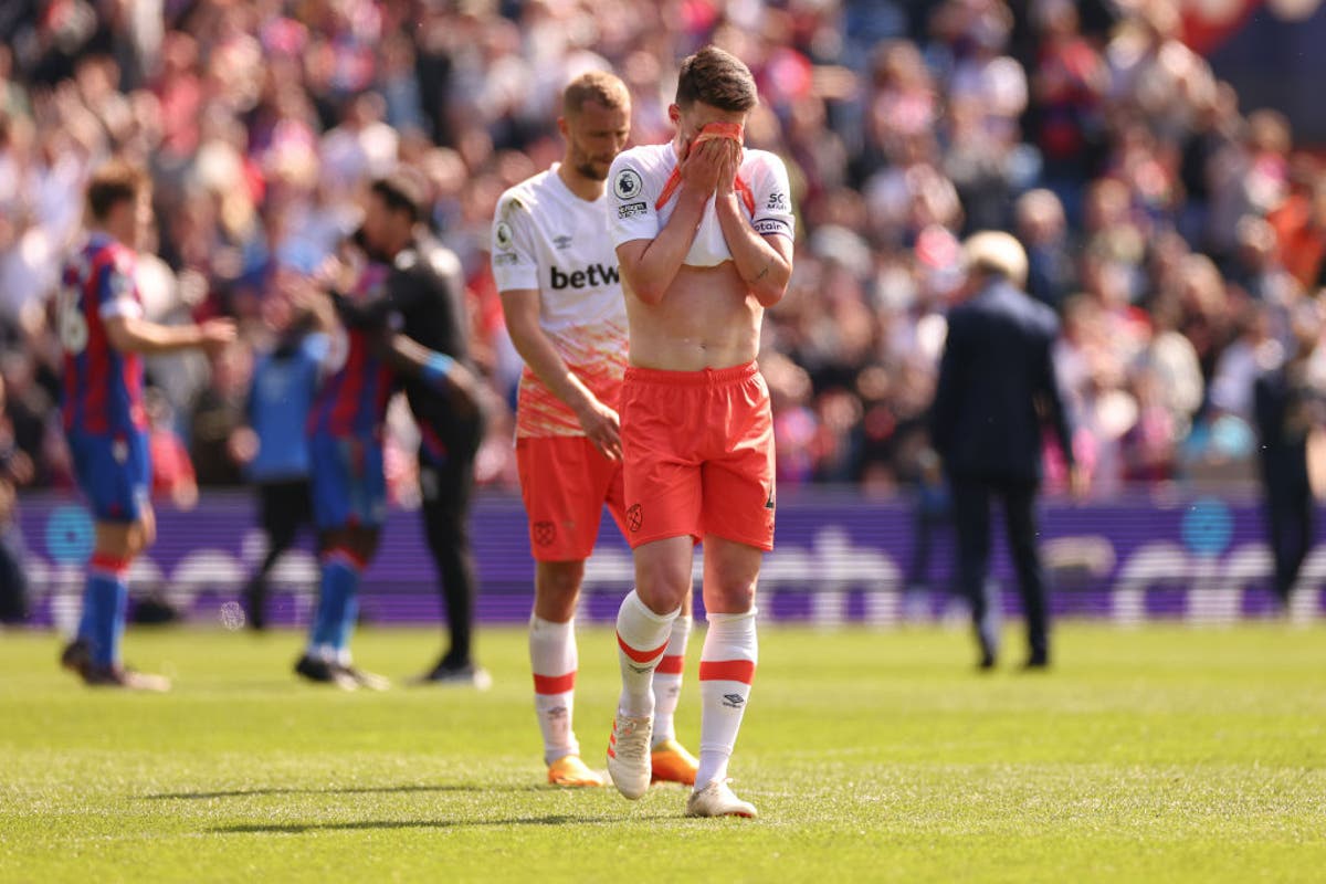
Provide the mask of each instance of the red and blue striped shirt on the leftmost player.
POLYGON ((93 233, 65 265, 56 323, 65 351, 65 431, 123 435, 147 428, 143 359, 121 353, 106 335, 115 317, 141 317, 134 252, 106 233, 93 233))

